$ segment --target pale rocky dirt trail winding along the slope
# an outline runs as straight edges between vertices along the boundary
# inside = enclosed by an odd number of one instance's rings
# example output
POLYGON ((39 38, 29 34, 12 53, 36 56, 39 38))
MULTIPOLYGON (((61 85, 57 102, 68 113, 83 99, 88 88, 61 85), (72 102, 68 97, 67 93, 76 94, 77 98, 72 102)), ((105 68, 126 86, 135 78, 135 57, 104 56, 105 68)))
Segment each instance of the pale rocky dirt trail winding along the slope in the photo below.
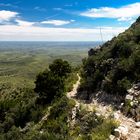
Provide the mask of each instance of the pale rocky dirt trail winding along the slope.
POLYGON ((86 104, 75 98, 81 80, 79 74, 77 74, 77 76, 78 81, 76 84, 74 84, 73 90, 67 93, 67 97, 75 100, 76 102, 75 108, 72 110, 72 117, 74 118, 76 116, 76 108, 78 108, 80 104, 83 104, 89 111, 92 111, 93 108, 96 108, 97 113, 105 116, 106 118, 110 115, 114 115, 114 118, 120 122, 120 125, 128 129, 128 134, 125 140, 140 140, 140 128, 136 128, 136 122, 133 119, 125 117, 120 111, 113 111, 111 106, 98 103, 97 100, 93 100, 92 103, 86 104))

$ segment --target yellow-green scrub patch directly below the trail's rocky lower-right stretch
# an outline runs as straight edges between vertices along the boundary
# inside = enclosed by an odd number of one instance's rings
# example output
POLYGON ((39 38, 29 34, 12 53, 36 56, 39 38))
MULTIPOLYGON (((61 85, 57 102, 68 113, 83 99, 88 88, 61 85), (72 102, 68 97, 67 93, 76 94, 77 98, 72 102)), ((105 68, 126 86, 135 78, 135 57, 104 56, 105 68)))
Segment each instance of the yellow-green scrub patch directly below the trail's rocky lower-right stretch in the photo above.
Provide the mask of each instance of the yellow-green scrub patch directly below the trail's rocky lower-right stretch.
POLYGON ((114 134, 114 128, 118 123, 111 117, 105 118, 92 112, 87 108, 80 107, 76 115, 76 123, 70 129, 70 136, 73 140, 106 140, 114 134))

